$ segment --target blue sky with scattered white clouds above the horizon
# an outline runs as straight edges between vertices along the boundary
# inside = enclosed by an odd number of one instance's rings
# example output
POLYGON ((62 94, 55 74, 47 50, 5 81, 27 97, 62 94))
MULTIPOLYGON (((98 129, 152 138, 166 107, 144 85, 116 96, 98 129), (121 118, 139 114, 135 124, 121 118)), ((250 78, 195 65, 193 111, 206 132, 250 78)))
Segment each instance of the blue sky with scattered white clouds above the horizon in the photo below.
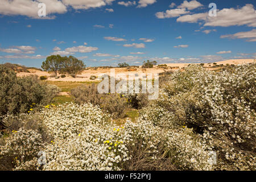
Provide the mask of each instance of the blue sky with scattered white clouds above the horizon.
POLYGON ((49 55, 89 66, 144 60, 210 63, 256 59, 255 1, 1 0, 0 63, 40 68, 49 55), (216 3, 217 16, 208 7, 216 3))

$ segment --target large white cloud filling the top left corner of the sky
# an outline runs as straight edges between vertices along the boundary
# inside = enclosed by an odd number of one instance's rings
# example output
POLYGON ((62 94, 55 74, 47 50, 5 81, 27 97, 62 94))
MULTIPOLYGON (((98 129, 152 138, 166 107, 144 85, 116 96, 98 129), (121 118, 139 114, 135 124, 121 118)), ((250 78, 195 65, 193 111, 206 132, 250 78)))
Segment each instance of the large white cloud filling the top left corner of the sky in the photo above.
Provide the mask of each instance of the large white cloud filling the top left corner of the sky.
MULTIPOLYGON (((50 14, 63 14, 67 12, 67 8, 63 5, 61 1, 58 0, 41 0, 46 4, 46 13, 47 15, 50 14)), ((24 15, 30 18, 39 19, 38 16, 38 1, 32 0, 1 0, 0 1, 0 14, 3 15, 24 15)), ((52 19, 55 16, 48 16, 46 18, 40 19, 52 19)))

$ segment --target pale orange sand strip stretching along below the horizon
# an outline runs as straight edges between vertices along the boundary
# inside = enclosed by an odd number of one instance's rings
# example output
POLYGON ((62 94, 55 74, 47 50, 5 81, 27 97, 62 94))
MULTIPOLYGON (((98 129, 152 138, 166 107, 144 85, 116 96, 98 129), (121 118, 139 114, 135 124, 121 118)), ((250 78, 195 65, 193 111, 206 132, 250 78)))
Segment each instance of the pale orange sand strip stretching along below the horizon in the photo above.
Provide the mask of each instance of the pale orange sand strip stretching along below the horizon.
MULTIPOLYGON (((217 65, 223 64, 243 64, 243 63, 253 63, 254 60, 252 59, 236 59, 236 60, 225 60, 225 61, 220 61, 220 62, 216 62, 217 65)), ((117 75, 118 73, 124 73, 125 75, 129 75, 129 73, 131 74, 142 74, 142 73, 162 73, 165 71, 171 71, 171 70, 178 70, 179 68, 183 68, 183 67, 187 67, 189 65, 189 63, 170 63, 170 64, 166 64, 169 69, 163 69, 163 68, 153 68, 153 69, 143 69, 143 68, 135 68, 135 69, 131 69, 130 71, 128 71, 126 68, 115 68, 115 75, 117 75), (172 68, 170 68, 172 67, 172 68)), ((213 64, 204 64, 204 67, 210 67, 213 66, 213 64)), ((73 78, 71 76, 67 76, 65 78, 55 78, 55 77, 49 77, 50 75, 52 75, 52 73, 48 73, 48 72, 43 72, 43 71, 37 71, 34 69, 29 69, 30 73, 17 73, 17 76, 22 77, 22 76, 28 76, 28 75, 38 75, 40 76, 47 76, 49 81, 77 81, 77 82, 82 82, 82 81, 100 81, 100 80, 90 80, 90 76, 100 76, 101 74, 106 74, 106 75, 110 75, 110 69, 106 68, 106 69, 102 69, 102 68, 98 68, 97 70, 94 69, 88 69, 83 71, 80 75, 77 75, 76 78, 73 78)), ((59 75, 60 76, 60 75, 59 75)))

